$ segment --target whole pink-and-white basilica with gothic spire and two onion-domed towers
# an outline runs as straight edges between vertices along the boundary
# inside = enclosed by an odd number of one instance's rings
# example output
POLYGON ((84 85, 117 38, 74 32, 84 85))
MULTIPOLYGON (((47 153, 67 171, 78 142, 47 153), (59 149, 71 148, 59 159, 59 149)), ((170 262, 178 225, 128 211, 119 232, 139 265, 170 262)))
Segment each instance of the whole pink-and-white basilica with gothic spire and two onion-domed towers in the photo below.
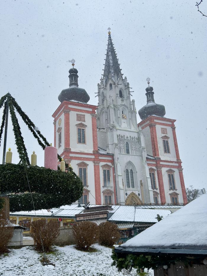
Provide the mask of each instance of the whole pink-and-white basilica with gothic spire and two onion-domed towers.
POLYGON ((87 104, 90 97, 78 87, 72 60, 69 88, 59 94, 61 104, 52 115, 54 146, 83 181, 80 203, 186 204, 176 120, 155 103, 149 78, 147 103, 137 114, 108 34, 97 106, 87 104))

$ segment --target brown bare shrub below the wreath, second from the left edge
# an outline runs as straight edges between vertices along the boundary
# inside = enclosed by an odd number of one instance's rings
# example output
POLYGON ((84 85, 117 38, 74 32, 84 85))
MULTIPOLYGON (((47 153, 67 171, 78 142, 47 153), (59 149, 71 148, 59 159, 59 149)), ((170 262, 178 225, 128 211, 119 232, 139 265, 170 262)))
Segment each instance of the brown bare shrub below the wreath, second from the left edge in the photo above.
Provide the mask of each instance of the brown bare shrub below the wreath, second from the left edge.
POLYGON ((60 223, 55 220, 38 219, 31 223, 31 236, 38 251, 49 251, 54 240, 59 236, 60 223))

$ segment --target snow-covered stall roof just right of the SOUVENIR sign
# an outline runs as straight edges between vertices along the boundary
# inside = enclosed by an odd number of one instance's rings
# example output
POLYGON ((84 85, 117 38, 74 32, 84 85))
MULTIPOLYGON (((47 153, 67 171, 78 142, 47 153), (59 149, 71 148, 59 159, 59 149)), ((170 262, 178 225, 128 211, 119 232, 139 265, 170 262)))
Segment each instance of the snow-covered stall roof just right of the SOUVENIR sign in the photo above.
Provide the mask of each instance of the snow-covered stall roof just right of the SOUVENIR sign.
POLYGON ((157 214, 167 217, 171 214, 170 210, 141 209, 137 206, 119 206, 109 221, 125 221, 125 222, 157 222, 157 214))

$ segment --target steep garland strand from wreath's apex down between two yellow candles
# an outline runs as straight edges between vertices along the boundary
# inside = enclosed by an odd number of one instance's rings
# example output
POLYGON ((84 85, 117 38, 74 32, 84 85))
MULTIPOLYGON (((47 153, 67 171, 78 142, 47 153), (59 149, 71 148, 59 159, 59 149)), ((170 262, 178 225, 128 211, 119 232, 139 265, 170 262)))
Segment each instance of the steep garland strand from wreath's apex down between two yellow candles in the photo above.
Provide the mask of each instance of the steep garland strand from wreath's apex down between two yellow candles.
POLYGON ((8 97, 7 99, 9 100, 9 111, 10 111, 10 115, 11 115, 11 119, 12 119, 13 131, 14 131, 14 136, 15 136, 15 144, 17 146, 17 151, 18 151, 20 160, 22 160, 22 162, 24 164, 30 165, 30 161, 29 161, 28 154, 27 154, 27 149, 24 144, 24 139, 22 137, 20 125, 19 125, 19 122, 17 120, 16 114, 14 111, 14 106, 12 104, 12 100, 10 99, 10 97, 8 97))

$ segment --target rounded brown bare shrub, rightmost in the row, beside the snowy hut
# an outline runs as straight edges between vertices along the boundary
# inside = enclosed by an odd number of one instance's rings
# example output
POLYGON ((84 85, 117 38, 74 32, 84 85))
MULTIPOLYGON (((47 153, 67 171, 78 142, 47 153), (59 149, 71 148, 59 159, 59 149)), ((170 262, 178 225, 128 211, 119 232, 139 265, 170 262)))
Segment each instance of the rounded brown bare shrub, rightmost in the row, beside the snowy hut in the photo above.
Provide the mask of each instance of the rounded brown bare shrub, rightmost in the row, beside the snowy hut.
POLYGON ((102 222, 99 225, 99 242, 104 246, 113 246, 120 238, 118 226, 111 222, 102 222))

